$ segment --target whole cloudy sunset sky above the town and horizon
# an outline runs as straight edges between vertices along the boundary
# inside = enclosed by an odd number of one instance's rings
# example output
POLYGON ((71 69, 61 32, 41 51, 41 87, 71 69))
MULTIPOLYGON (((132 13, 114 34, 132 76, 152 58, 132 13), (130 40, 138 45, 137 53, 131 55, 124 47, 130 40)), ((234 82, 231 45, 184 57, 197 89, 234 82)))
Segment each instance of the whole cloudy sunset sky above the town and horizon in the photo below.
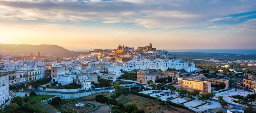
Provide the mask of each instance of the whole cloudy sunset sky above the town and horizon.
POLYGON ((0 43, 256 49, 256 1, 0 0, 0 43))

